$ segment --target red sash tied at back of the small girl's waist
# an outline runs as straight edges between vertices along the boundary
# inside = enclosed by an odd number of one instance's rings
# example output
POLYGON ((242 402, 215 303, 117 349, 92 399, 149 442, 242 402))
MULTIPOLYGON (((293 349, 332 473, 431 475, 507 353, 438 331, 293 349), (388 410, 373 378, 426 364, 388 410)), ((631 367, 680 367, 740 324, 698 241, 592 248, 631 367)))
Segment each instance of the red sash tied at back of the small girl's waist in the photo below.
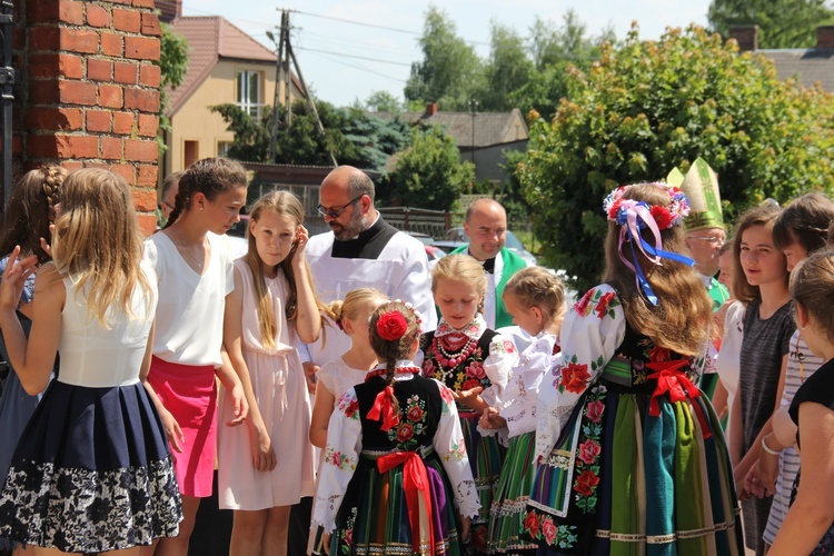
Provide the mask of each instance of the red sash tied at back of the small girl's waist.
POLYGON ((419 495, 426 506, 428 523, 429 553, 435 554, 435 532, 431 527, 431 492, 429 489, 428 473, 423 458, 416 451, 396 451, 377 459, 379 473, 386 473, 403 465, 403 488, 406 492, 406 507, 408 522, 411 524, 411 548, 416 554, 420 552, 420 505, 419 495))

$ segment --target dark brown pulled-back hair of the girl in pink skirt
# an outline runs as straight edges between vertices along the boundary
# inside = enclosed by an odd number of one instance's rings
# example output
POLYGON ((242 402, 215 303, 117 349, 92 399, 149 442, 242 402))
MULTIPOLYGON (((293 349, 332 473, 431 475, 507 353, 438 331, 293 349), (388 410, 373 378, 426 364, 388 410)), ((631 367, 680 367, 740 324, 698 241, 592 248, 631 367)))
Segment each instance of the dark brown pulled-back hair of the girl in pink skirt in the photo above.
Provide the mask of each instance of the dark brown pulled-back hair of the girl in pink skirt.
POLYGON ((209 201, 214 201, 217 196, 237 187, 246 187, 247 183, 246 170, 240 162, 219 157, 198 160, 180 178, 173 210, 165 227, 171 226, 191 208, 196 193, 202 193, 209 201))

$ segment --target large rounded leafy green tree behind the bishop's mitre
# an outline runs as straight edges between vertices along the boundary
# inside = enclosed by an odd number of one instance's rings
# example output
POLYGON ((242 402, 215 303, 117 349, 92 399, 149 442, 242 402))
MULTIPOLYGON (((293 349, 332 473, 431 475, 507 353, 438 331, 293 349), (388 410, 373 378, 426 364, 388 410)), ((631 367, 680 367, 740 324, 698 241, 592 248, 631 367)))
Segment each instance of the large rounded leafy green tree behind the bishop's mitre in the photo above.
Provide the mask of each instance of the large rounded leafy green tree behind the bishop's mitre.
POLYGON ((781 81, 764 54, 691 27, 642 41, 633 28, 589 71, 570 70, 553 120, 532 122, 517 173, 545 259, 596 281, 605 195, 663 179, 698 156, 721 177, 725 217, 766 197, 834 191, 834 99, 781 81))

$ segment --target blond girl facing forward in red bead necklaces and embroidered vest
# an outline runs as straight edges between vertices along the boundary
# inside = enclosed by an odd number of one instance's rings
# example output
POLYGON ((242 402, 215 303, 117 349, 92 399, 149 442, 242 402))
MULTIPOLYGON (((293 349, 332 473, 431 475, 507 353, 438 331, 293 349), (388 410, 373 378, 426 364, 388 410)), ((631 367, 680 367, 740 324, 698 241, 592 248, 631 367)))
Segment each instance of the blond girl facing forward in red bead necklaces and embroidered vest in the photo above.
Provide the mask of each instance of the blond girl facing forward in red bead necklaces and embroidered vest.
POLYGON ((484 553, 489 508, 506 450, 496 436, 481 437, 478 419, 486 408, 500 404, 518 354, 513 341, 487 328, 481 315, 486 275, 478 261, 468 255, 449 255, 437 261, 431 278, 431 292, 441 318, 437 330, 420 340, 423 374, 454 393, 480 496, 480 514, 473 523, 470 544, 484 553))

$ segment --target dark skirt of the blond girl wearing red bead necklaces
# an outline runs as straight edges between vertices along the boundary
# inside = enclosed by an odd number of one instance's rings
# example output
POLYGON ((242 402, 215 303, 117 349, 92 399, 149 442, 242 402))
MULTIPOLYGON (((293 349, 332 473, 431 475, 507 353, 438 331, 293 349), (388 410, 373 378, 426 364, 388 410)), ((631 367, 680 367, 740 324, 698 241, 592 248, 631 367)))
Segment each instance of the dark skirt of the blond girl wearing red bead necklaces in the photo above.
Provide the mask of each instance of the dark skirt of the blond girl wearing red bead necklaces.
POLYGON ((466 454, 469 456, 471 474, 475 477, 475 486, 478 489, 480 500, 480 513, 471 520, 469 545, 470 550, 485 554, 487 552, 487 536, 489 526, 489 510, 495 499, 495 489, 498 487, 498 477, 504 466, 507 448, 498 441, 498 436, 480 436, 478 433, 478 419, 480 414, 460 409, 460 429, 464 433, 466 454))

